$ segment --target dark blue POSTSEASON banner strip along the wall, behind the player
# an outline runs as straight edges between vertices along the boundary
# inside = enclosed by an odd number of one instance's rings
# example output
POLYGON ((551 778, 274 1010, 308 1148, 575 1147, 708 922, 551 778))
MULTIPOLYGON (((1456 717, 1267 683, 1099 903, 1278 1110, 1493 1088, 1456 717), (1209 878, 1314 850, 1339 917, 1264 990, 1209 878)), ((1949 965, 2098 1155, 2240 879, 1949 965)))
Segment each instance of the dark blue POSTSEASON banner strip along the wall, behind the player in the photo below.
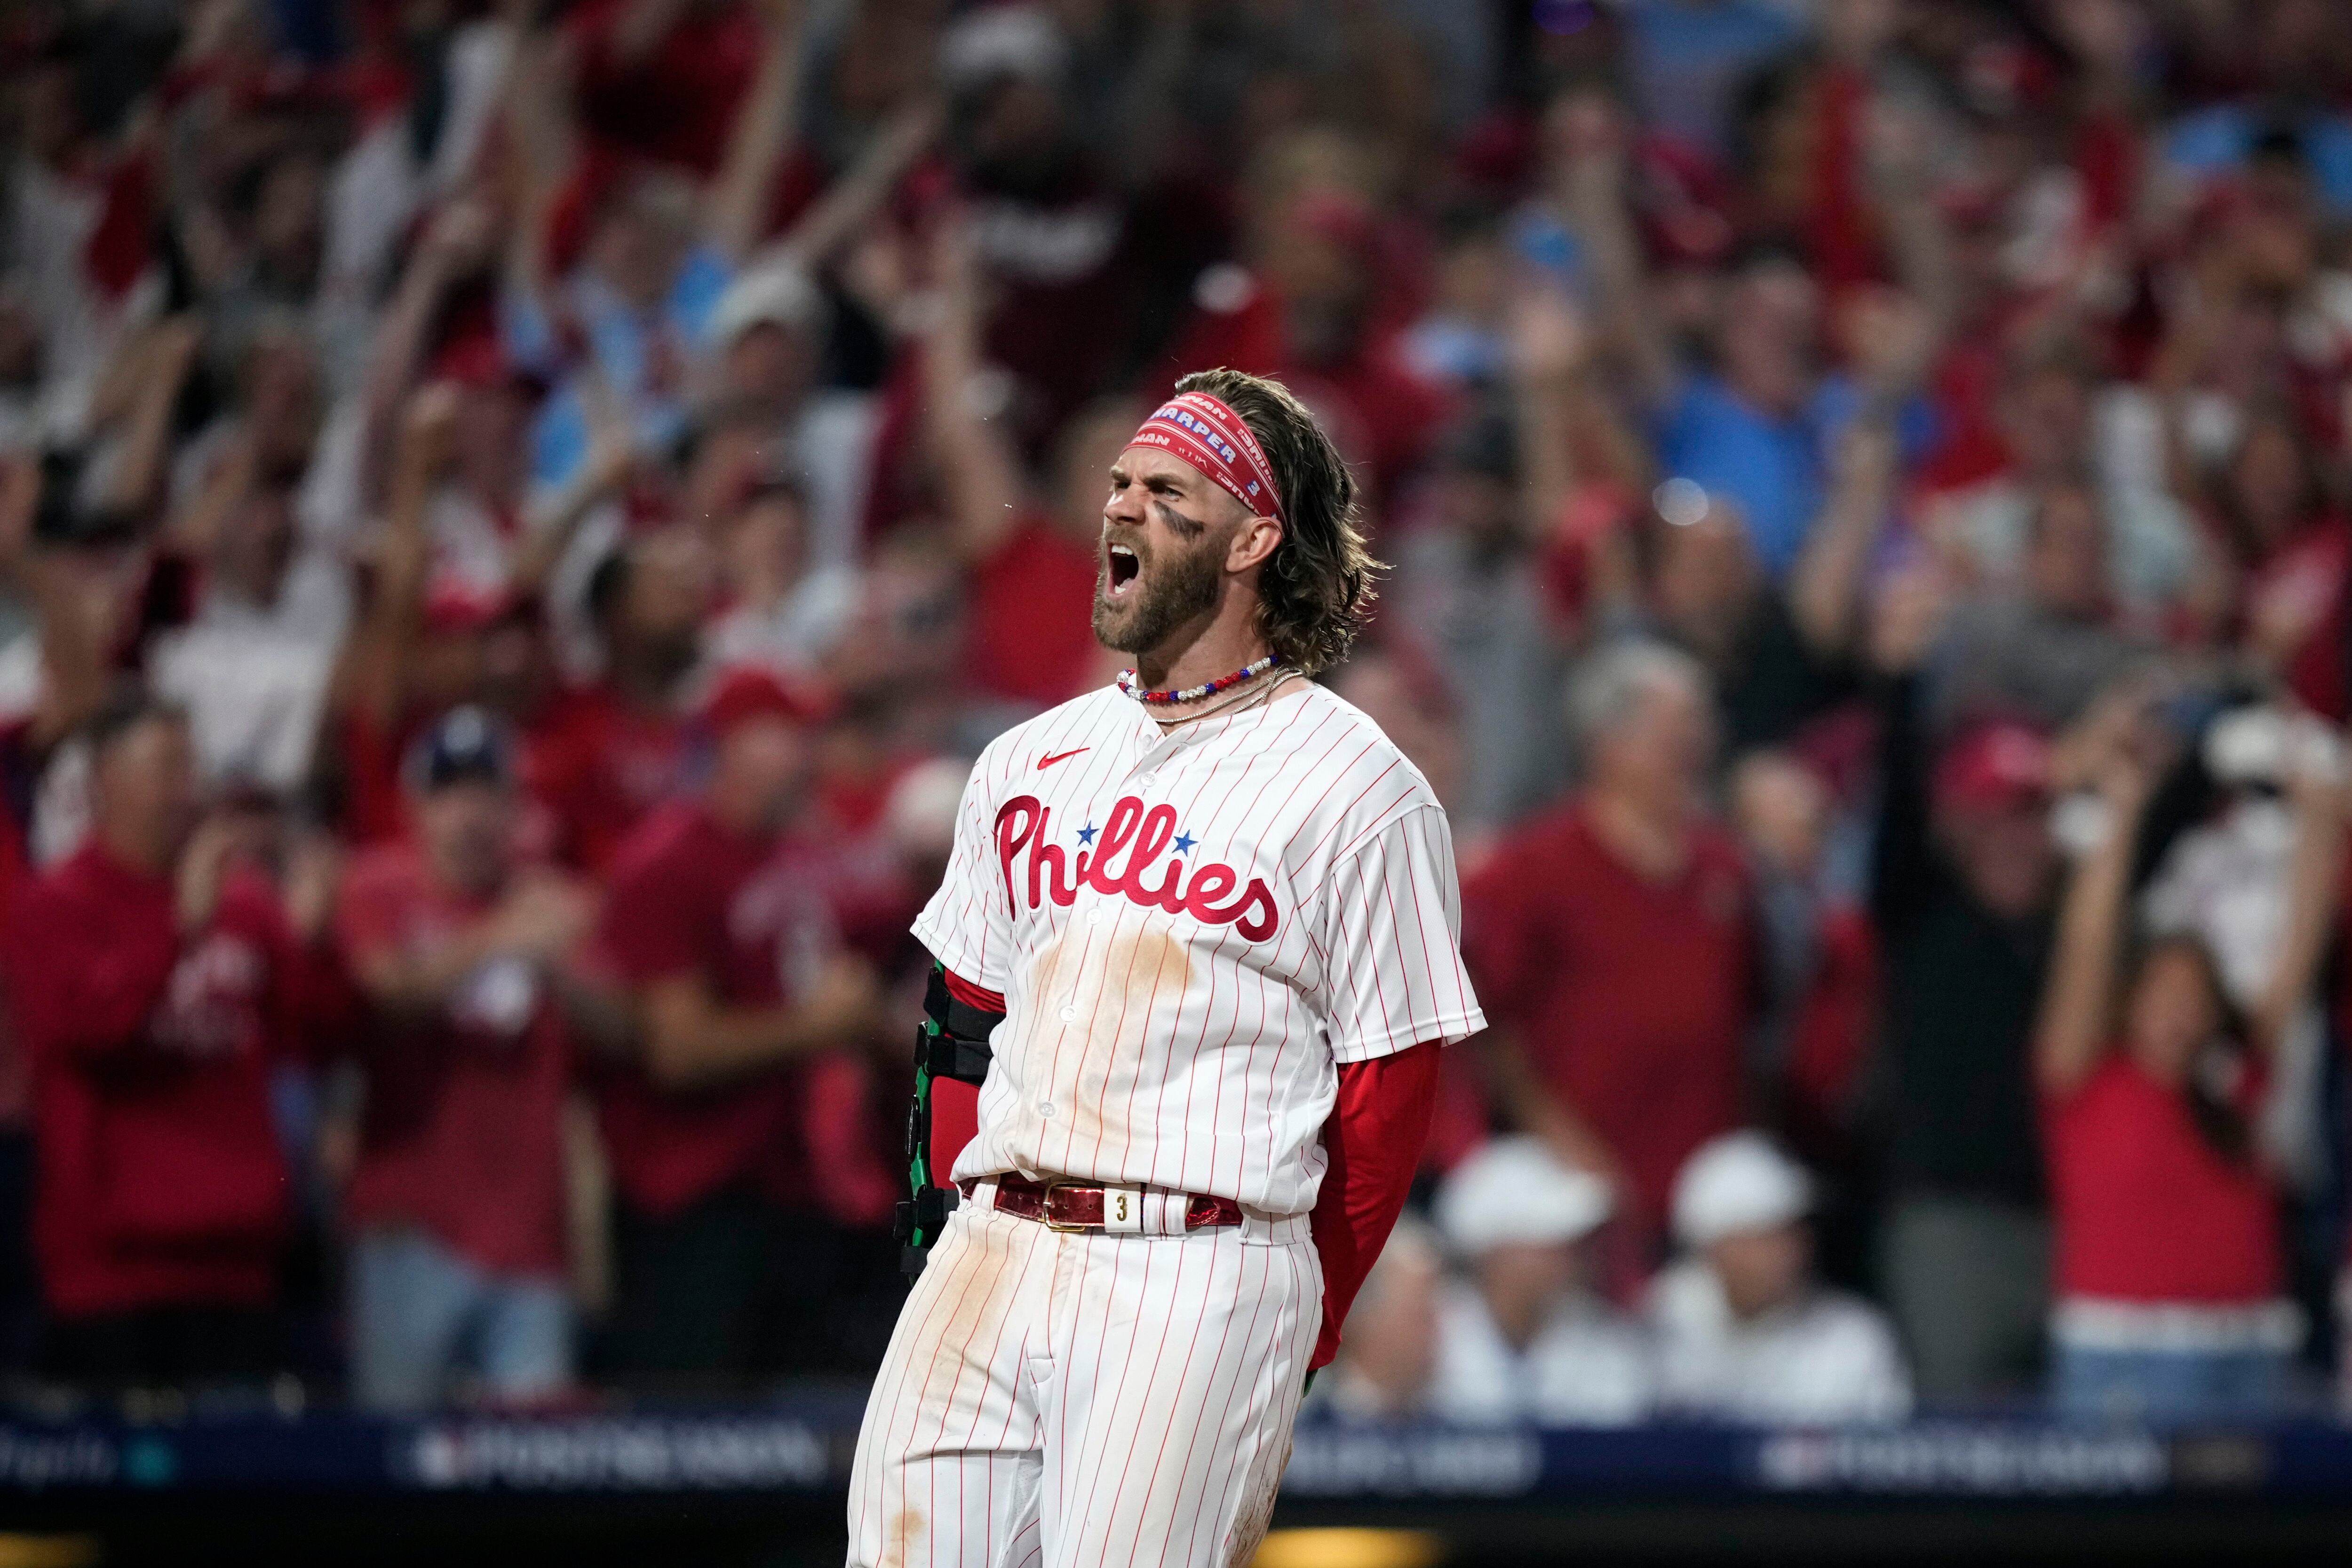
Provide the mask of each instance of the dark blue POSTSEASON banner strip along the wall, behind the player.
MULTIPOLYGON (((837 1493, 856 1410, 445 1415, 266 1410, 179 1422, 0 1422, 0 1495, 146 1493, 837 1493)), ((2044 1422, 1870 1429, 1378 1427, 1303 1420, 1296 1500, 1592 1497, 2312 1497, 2352 1490, 2352 1429, 2291 1422, 2157 1434, 2044 1422)))

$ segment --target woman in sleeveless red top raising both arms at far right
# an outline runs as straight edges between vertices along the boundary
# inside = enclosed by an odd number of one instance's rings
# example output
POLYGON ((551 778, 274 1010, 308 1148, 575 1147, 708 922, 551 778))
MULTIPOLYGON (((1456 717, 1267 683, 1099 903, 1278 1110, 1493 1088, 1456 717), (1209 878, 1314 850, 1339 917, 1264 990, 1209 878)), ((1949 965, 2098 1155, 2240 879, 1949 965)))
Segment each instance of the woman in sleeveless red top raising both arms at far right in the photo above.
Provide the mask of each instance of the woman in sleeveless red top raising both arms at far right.
POLYGON ((2105 839, 2067 889, 2034 1034, 2058 1241, 2051 1399, 2093 1420, 2260 1415, 2286 1392, 2303 1324, 2251 1117, 2328 940, 2343 785, 2317 769, 2286 783, 2288 910, 2239 1018, 2187 931, 2150 936, 2117 985, 2150 771, 2129 743, 2110 750, 2105 839))

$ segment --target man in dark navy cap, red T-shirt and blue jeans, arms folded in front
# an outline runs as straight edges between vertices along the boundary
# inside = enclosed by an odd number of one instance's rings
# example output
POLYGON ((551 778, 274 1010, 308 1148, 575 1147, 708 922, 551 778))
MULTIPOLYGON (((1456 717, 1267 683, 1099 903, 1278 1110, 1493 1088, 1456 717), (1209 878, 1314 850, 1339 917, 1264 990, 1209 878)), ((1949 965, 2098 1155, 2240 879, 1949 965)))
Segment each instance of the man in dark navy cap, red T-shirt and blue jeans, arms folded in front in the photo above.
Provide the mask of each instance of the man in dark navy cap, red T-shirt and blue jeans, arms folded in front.
POLYGON ((487 712, 449 712, 407 776, 414 839, 353 863, 336 912, 365 997, 353 1394, 423 1408, 466 1371, 548 1396, 572 1378, 555 959, 593 907, 513 865, 513 745, 487 712))

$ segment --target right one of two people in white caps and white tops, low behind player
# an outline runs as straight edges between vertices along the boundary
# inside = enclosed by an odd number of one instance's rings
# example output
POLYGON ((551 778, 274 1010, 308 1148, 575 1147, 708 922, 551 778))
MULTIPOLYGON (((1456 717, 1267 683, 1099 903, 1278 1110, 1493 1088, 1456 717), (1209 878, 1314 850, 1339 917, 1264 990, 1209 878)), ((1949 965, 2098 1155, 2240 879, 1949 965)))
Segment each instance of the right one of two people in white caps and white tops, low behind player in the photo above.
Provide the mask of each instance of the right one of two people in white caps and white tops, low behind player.
POLYGON ((1686 1255, 1651 1284, 1661 1399, 1740 1422, 1872 1422, 1910 1413, 1886 1319, 1811 1272, 1811 1178, 1762 1133, 1729 1133, 1675 1178, 1686 1255))

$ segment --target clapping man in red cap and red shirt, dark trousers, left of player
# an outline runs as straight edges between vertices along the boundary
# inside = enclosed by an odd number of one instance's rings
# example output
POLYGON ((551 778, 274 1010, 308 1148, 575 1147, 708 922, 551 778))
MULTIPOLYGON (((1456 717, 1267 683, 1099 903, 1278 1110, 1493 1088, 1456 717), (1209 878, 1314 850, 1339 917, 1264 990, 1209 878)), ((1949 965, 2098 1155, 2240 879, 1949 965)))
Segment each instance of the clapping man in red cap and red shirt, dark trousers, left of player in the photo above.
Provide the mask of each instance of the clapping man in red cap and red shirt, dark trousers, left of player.
POLYGON ((621 846, 595 961, 635 1027, 600 1079, 616 1190, 614 1371, 696 1380, 821 1356, 837 1232, 802 1126, 811 1058, 880 1030, 873 971, 833 945, 786 825, 809 708, 764 670, 713 691, 710 783, 621 846))

